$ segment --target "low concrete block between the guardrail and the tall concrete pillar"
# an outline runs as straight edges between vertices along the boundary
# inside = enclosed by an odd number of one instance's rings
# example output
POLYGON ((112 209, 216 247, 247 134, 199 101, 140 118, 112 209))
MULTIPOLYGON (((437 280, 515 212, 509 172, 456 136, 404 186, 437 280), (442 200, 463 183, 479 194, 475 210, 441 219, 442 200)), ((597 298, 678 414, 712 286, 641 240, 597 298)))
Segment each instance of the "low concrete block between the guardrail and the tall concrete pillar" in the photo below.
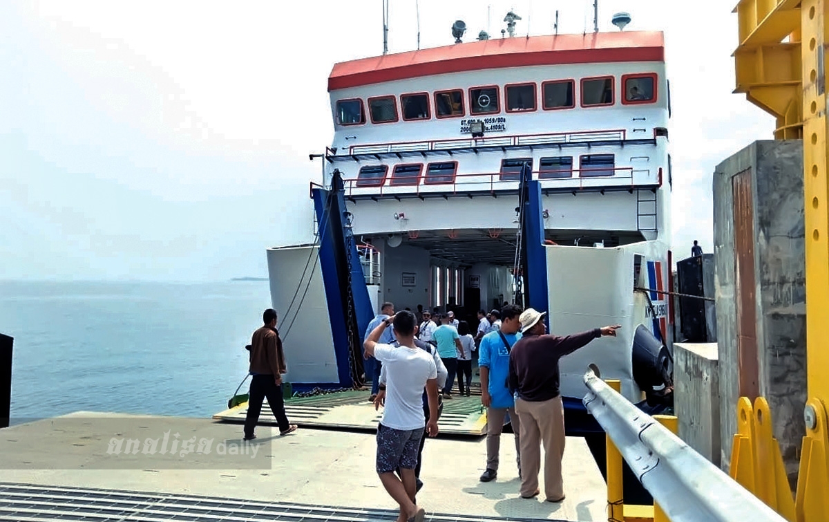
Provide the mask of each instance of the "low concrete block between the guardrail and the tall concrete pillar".
POLYGON ((717 344, 674 344, 674 410, 679 437, 716 466, 720 448, 717 344))

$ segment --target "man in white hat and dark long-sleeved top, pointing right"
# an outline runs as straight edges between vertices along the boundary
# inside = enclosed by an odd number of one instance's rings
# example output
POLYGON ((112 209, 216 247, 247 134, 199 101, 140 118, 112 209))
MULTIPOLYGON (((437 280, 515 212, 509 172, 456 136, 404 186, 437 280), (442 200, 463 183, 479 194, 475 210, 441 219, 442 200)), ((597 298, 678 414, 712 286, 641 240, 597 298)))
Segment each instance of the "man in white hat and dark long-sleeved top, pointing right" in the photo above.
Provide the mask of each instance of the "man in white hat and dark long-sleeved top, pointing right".
POLYGON ((548 502, 565 499, 561 458, 565 454, 565 412, 559 393, 559 359, 593 339, 616 336, 621 325, 605 326, 581 334, 546 335, 546 312, 528 308, 521 314, 521 339, 510 352, 510 388, 518 393, 516 412, 521 417, 521 496, 539 494, 540 443, 544 443, 544 492, 548 502))

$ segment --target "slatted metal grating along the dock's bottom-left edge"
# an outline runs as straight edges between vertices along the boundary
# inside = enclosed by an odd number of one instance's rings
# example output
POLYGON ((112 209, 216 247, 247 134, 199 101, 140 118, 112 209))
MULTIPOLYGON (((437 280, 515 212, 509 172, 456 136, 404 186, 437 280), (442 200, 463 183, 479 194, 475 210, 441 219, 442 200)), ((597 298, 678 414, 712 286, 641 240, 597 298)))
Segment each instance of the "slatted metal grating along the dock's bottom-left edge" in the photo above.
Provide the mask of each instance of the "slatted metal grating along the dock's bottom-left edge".
MULTIPOLYGON (((8 522, 376 522, 397 511, 221 497, 0 482, 0 520, 8 522)), ((427 514, 434 522, 531 522, 531 519, 427 514)), ((564 521, 560 521, 564 522, 564 521)))

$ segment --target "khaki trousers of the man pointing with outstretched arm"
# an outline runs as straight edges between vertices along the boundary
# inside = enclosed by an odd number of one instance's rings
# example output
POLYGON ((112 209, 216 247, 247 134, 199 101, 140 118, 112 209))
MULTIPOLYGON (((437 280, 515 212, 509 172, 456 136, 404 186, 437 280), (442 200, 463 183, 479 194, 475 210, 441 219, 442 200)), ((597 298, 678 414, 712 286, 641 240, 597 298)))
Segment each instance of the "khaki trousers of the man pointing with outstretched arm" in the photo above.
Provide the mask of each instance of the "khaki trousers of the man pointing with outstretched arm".
POLYGON ((540 445, 543 443, 546 500, 560 500, 565 495, 561 476, 561 459, 565 455, 565 408, 561 396, 541 402, 516 399, 516 412, 521 417, 521 496, 531 496, 538 489, 540 445))

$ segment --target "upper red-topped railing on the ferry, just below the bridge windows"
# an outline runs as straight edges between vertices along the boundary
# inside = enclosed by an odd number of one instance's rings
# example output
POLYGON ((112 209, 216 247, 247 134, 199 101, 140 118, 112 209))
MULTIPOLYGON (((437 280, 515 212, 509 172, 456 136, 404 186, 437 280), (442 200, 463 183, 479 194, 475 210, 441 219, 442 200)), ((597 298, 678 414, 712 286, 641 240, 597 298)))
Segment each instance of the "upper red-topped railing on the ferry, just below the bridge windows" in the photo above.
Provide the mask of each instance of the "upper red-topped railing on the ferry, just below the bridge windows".
POLYGON ((623 141, 625 129, 584 130, 543 134, 515 134, 510 136, 484 136, 482 138, 421 139, 386 144, 351 145, 348 152, 359 154, 386 154, 395 152, 423 152, 428 150, 476 149, 479 147, 515 147, 545 144, 576 144, 623 141))

